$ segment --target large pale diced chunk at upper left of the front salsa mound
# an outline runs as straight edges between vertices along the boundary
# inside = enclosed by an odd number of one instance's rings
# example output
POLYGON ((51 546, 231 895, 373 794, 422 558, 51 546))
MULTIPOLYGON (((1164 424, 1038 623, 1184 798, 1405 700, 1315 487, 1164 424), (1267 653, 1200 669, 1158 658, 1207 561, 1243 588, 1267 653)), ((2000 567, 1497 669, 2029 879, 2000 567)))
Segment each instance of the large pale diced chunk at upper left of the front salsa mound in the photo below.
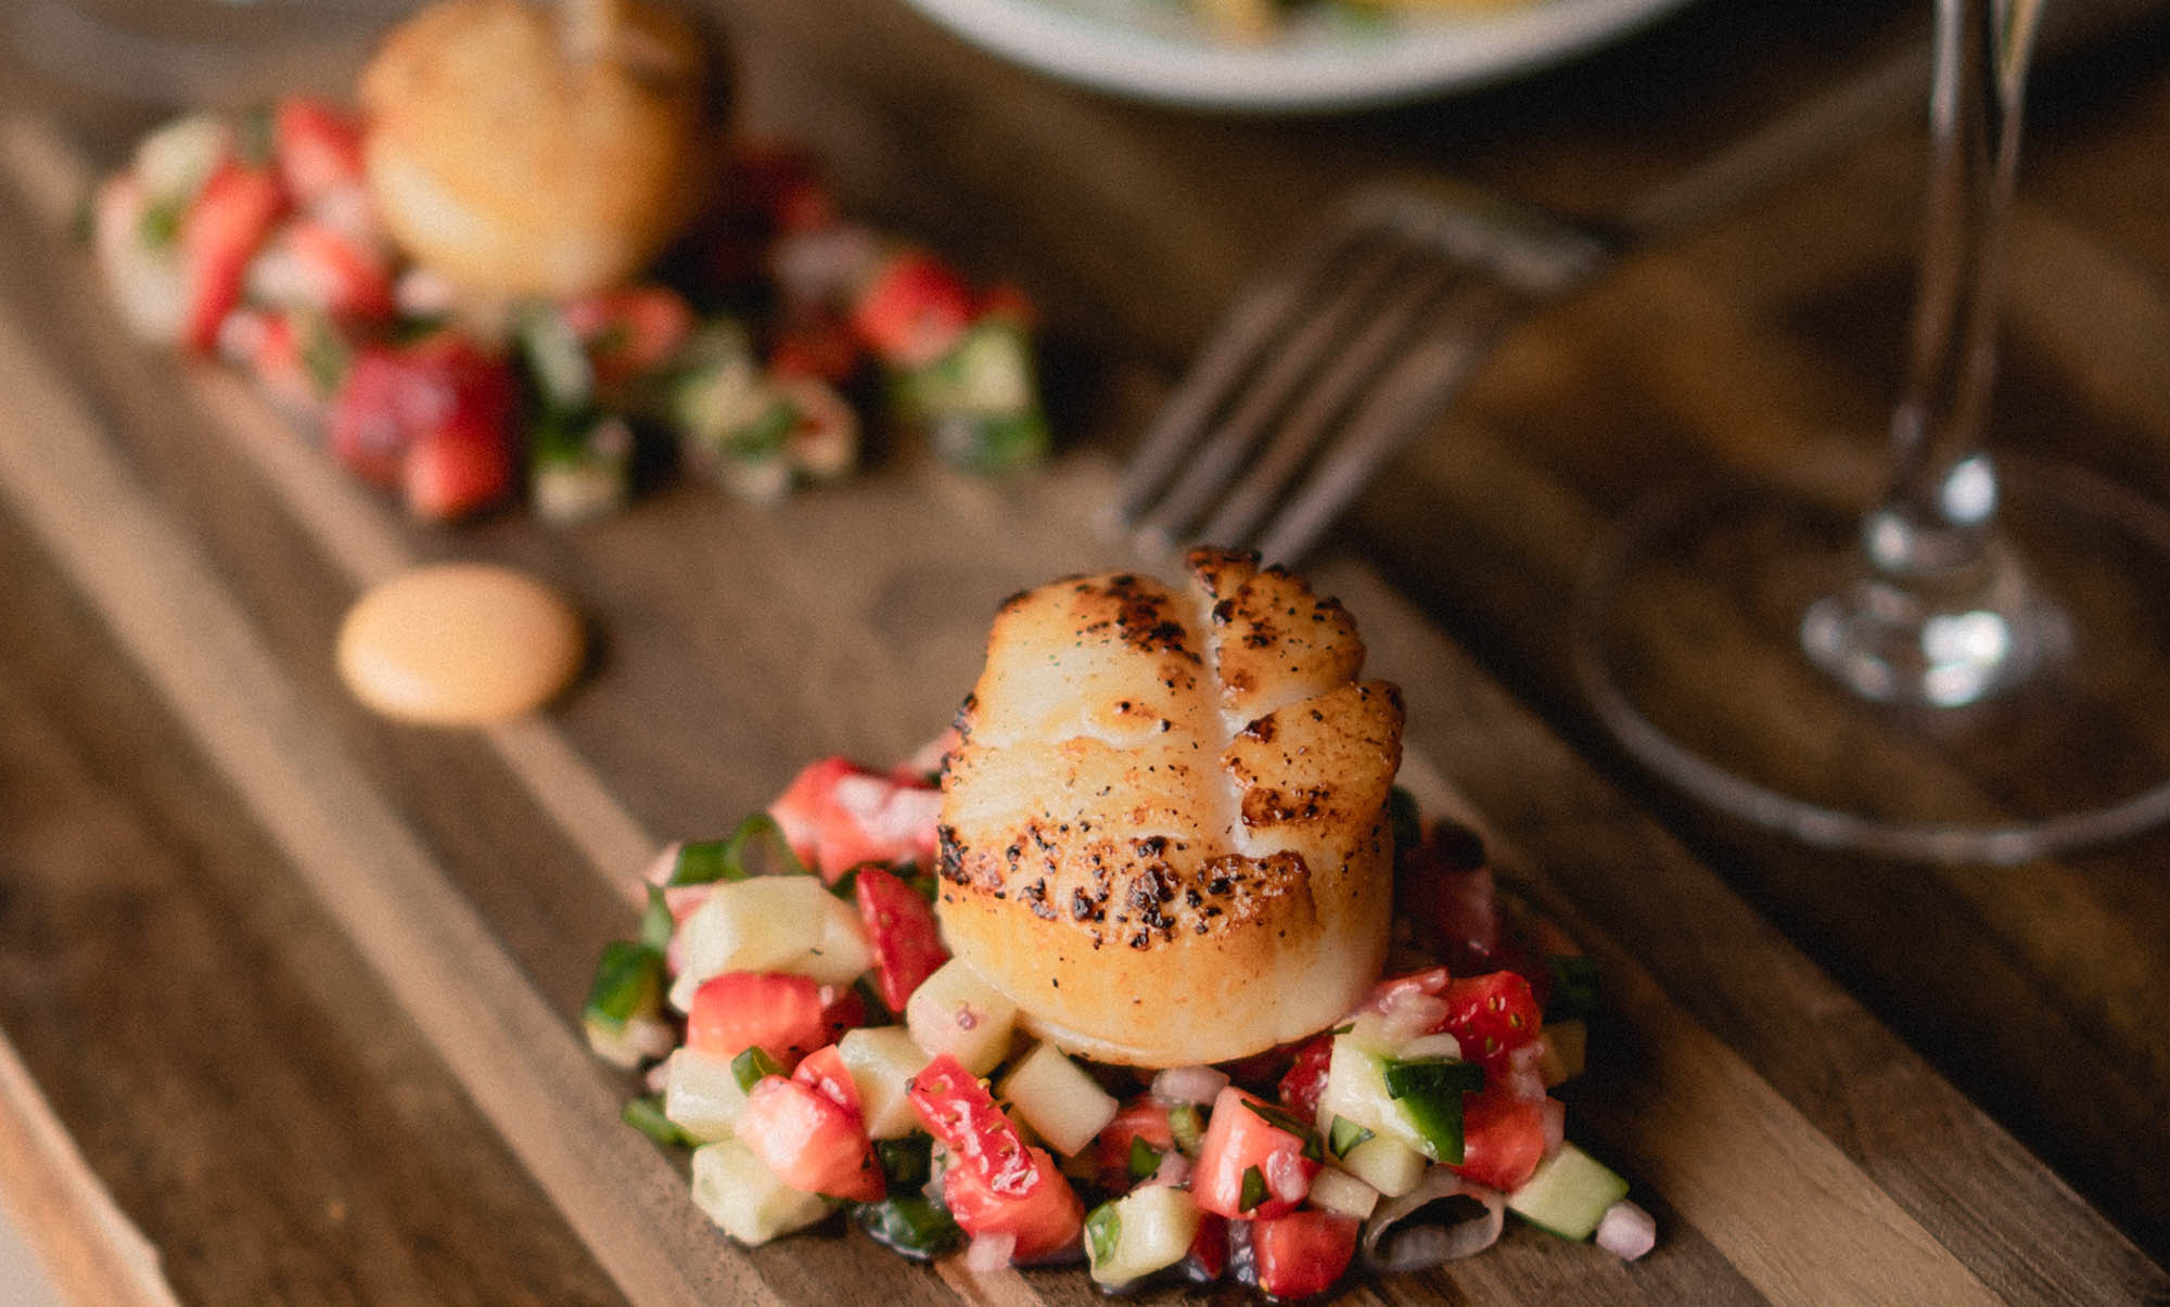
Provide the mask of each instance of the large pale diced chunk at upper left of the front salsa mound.
POLYGON ((701 981, 725 970, 781 970, 848 986, 870 964, 859 912, 812 875, 718 884, 679 927, 671 1005, 692 1007, 701 981))

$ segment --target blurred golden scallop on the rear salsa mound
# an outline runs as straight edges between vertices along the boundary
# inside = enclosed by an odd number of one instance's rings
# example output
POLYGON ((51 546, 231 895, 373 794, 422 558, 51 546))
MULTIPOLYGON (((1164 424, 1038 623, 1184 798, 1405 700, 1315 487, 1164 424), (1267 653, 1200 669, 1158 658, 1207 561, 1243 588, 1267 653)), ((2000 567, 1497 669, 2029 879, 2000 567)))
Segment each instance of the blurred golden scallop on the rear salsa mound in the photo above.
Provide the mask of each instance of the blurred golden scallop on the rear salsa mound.
POLYGON ((655 0, 438 0, 362 72, 369 191, 401 248, 471 291, 605 289, 694 213, 718 76, 655 0))

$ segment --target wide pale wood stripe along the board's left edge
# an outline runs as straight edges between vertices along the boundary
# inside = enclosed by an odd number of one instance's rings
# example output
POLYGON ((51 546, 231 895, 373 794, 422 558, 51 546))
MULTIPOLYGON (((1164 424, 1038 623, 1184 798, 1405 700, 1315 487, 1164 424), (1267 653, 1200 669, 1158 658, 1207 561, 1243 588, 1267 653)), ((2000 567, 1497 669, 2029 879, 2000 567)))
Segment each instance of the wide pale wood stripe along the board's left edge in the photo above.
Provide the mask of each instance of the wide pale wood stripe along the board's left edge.
POLYGON ((590 1053, 306 721, 217 578, 7 321, 0 389, 0 486, 627 1296, 773 1300, 677 1170, 616 1122, 590 1053))

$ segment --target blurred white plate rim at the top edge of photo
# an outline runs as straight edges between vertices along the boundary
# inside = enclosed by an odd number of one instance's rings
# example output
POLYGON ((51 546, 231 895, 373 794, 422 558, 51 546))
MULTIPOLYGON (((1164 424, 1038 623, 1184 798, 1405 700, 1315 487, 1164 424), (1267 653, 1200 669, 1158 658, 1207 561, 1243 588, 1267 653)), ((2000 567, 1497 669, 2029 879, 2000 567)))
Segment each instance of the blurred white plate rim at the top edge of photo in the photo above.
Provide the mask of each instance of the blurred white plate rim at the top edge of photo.
POLYGON ((1061 78, 1209 109, 1356 109, 1562 61, 1684 0, 1530 0, 1484 15, 1358 20, 1311 4, 1256 46, 1215 35, 1189 0, 909 0, 987 50, 1061 78))

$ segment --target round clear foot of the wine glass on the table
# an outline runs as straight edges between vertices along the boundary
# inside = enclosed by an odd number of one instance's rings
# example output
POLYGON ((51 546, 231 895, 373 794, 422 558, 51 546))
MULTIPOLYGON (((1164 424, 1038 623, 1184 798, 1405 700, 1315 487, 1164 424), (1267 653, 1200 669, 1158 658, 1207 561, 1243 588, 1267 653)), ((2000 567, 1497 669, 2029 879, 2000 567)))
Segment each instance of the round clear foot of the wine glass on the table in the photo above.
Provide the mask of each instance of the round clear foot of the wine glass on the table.
POLYGON ((1831 849, 2012 864, 2170 819, 2170 515, 2001 465, 2025 619, 1990 671, 1953 673, 1949 706, 1877 695, 1875 640, 1840 632, 1877 612, 1858 510, 1677 491, 1628 515, 1575 595, 1599 721, 1703 803, 1831 849))

